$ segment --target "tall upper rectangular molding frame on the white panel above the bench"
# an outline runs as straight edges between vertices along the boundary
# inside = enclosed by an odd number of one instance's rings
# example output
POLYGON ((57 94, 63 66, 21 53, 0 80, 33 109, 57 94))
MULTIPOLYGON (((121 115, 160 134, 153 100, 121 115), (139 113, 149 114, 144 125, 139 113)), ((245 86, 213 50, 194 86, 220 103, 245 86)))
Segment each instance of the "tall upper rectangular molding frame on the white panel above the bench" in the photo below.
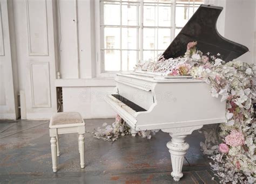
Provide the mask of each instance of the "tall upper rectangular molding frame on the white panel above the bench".
POLYGON ((30 56, 49 56, 49 40, 48 40, 48 19, 47 19, 47 6, 46 6, 46 0, 42 1, 44 2, 44 17, 45 17, 45 36, 44 36, 44 41, 45 41, 45 48, 44 52, 33 52, 32 51, 32 45, 31 45, 31 25, 30 25, 30 11, 29 11, 29 1, 31 0, 26 0, 26 19, 27 19, 27 27, 28 27, 28 43, 29 43, 29 55, 30 56))

